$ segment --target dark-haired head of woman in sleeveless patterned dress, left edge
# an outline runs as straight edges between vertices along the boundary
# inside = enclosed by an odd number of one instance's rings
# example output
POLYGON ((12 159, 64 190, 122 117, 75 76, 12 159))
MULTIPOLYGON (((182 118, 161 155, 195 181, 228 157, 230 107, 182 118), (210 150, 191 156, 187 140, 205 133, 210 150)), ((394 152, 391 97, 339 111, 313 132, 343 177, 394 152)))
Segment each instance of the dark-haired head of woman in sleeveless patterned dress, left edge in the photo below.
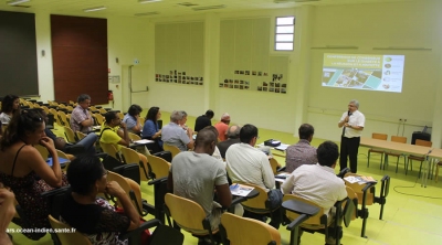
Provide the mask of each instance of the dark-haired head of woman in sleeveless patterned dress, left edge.
POLYGON ((44 118, 38 110, 23 110, 12 117, 1 138, 0 148, 4 150, 21 140, 28 145, 36 145, 44 134, 44 118))

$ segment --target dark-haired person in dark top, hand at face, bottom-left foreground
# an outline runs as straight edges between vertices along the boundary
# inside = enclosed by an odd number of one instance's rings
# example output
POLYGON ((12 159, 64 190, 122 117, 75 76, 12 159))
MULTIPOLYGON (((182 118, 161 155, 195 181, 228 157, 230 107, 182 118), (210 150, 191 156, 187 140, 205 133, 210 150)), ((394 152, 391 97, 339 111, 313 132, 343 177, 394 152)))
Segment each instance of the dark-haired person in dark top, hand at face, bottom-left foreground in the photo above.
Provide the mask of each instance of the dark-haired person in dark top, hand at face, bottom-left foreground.
POLYGON ((126 192, 115 181, 107 182, 107 170, 98 158, 81 156, 67 169, 72 193, 64 199, 62 221, 87 236, 92 244, 127 244, 118 241, 119 233, 139 226, 139 215, 126 192), (124 213, 98 193, 107 193, 119 200, 124 213))

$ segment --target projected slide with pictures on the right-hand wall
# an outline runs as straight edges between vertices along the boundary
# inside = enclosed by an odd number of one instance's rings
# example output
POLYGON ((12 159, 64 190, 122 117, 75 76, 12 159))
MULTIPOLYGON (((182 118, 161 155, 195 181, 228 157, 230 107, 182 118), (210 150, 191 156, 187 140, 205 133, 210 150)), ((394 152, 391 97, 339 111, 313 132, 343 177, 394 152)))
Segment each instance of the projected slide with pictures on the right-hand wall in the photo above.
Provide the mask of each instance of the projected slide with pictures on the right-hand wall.
POLYGON ((403 55, 324 54, 323 86, 402 92, 403 55))

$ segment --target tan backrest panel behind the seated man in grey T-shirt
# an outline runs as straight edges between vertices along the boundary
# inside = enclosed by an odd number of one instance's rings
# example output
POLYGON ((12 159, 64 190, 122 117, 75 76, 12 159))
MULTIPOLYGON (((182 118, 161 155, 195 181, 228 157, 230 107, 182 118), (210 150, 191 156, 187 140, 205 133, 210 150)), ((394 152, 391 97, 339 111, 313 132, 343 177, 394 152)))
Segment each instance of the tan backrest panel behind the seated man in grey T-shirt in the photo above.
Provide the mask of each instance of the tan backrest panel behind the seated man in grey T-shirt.
POLYGON ((166 194, 165 202, 167 209, 170 211, 170 216, 180 227, 207 233, 202 226, 206 212, 200 204, 171 193, 166 194))

